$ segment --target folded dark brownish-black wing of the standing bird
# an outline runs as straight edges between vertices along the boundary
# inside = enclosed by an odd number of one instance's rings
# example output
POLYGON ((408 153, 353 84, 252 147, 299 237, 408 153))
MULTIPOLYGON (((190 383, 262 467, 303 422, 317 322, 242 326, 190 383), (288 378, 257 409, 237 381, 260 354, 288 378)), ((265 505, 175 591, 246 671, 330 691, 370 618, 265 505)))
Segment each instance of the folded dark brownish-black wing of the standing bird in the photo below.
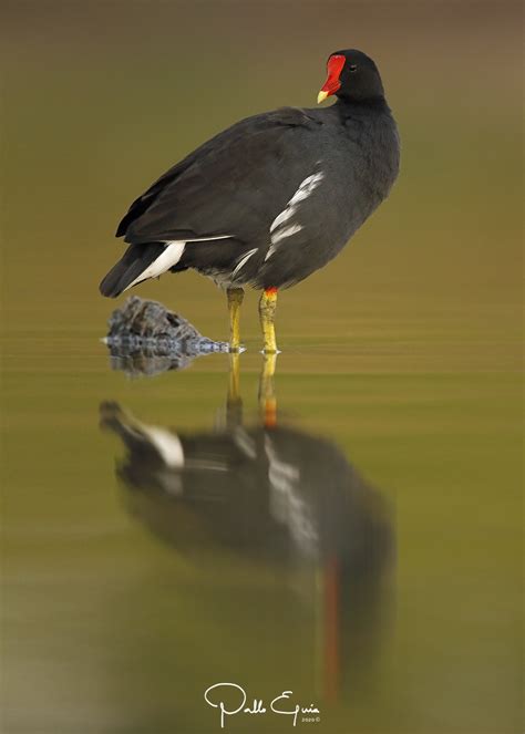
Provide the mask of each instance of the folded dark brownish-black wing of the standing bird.
POLYGON ((231 236, 250 240, 282 210, 317 162, 321 123, 285 107, 243 120, 166 172, 117 229, 130 242, 231 236))

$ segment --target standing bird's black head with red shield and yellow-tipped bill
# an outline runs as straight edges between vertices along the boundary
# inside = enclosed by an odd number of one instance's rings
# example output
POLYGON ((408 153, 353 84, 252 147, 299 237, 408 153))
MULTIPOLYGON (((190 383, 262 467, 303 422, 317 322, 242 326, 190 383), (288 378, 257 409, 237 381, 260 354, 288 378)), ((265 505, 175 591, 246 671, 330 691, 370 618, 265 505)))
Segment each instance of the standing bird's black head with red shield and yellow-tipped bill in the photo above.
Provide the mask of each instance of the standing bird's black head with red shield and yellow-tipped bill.
POLYGON ((317 97, 318 104, 331 94, 349 102, 367 102, 384 96, 374 62, 362 51, 334 51, 327 61, 328 77, 317 97))

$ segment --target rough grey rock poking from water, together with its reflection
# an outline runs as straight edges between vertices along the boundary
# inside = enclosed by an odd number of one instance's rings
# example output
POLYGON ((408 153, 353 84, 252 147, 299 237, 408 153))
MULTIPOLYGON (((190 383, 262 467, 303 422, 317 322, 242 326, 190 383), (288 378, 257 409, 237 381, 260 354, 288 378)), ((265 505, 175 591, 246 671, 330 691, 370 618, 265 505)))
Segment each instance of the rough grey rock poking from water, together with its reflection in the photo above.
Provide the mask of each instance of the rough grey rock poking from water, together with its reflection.
POLYGON ((137 296, 113 311, 109 327, 111 366, 131 375, 182 370, 197 356, 228 351, 226 342, 203 337, 178 313, 137 296))

